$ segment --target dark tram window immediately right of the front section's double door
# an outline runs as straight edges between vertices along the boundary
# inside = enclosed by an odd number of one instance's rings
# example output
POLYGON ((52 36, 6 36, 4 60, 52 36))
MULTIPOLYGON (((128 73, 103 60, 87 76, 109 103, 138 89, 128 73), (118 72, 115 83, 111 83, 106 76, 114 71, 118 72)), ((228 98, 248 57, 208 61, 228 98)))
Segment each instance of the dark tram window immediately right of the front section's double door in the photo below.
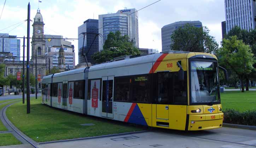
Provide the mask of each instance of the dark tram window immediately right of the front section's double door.
POLYGON ((115 78, 115 101, 130 102, 130 94, 132 92, 131 83, 132 79, 130 77, 115 78))

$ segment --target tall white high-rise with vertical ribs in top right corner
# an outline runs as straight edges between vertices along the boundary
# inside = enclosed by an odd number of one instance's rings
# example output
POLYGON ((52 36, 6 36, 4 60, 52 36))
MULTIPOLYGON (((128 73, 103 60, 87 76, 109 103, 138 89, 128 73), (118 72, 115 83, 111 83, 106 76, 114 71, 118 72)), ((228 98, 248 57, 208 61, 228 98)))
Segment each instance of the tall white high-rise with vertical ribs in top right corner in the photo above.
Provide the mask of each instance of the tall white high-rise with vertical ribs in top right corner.
POLYGON ((256 4, 255 0, 224 0, 226 32, 234 26, 251 30, 256 28, 256 4))

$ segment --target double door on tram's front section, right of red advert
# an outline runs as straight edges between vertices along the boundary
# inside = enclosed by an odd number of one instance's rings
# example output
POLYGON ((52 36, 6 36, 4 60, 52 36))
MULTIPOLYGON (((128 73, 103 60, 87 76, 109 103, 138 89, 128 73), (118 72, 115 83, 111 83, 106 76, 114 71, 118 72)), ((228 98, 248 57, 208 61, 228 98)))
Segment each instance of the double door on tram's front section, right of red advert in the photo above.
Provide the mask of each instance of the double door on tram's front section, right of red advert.
POLYGON ((102 117, 114 118, 113 116, 113 92, 114 76, 102 77, 102 117))

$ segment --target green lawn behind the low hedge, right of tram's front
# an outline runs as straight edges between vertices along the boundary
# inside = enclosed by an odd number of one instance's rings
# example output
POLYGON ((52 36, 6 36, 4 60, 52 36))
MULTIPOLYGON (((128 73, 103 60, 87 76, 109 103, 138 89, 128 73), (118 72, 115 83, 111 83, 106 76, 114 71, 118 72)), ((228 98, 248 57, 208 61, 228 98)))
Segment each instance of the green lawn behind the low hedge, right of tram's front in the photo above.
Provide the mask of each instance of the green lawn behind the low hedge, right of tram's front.
POLYGON ((238 111, 256 110, 256 91, 224 91, 221 93, 222 108, 238 111))

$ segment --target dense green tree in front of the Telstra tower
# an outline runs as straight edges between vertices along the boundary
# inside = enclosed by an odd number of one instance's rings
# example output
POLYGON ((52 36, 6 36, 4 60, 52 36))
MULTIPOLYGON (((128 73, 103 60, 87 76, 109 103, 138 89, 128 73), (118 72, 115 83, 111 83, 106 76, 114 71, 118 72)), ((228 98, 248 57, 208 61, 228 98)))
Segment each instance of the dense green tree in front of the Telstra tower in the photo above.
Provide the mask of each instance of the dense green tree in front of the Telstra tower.
POLYGON ((134 46, 133 41, 129 41, 127 35, 122 36, 120 31, 115 33, 110 32, 107 35, 107 40, 104 43, 103 50, 96 52, 92 58, 97 63, 110 61, 113 58, 124 55, 139 55, 140 51, 134 46))

